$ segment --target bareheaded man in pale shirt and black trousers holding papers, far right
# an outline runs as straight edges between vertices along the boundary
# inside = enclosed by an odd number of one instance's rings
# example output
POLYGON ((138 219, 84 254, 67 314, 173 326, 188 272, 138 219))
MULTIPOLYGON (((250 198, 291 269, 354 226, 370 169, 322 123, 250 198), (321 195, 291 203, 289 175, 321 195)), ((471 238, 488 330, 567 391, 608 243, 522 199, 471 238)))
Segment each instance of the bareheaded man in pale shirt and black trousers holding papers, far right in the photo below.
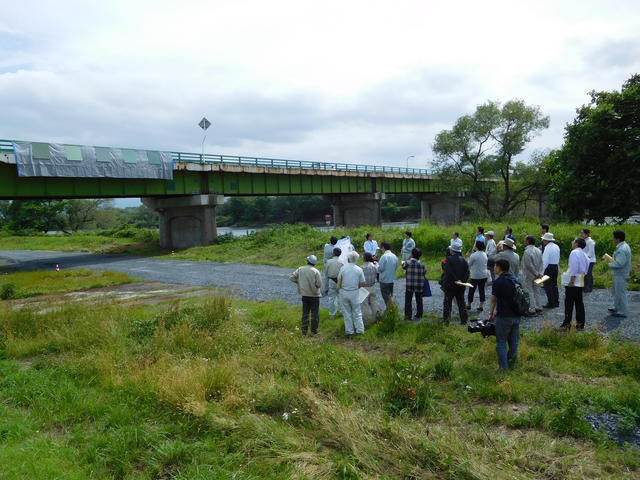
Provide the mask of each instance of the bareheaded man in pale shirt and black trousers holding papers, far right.
POLYGON ((589 272, 589 257, 584 253, 587 244, 584 238, 576 238, 571 243, 571 254, 569 255, 569 268, 562 274, 562 284, 564 285, 564 322, 560 328, 571 329, 571 317, 573 308, 576 309, 576 330, 584 330, 584 301, 582 289, 584 288, 584 276, 589 272))

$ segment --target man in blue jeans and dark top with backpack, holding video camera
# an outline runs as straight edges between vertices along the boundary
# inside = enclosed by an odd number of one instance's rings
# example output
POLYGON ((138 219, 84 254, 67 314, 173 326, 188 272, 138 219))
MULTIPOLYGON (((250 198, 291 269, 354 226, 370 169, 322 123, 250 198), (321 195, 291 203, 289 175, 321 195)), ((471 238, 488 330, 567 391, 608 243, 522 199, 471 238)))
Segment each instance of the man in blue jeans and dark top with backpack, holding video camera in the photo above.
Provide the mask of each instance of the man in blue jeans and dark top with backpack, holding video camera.
POLYGON ((496 261, 493 267, 496 279, 493 282, 489 318, 496 324, 496 353, 500 370, 513 367, 518 359, 520 340, 520 315, 515 310, 516 279, 509 273, 509 262, 496 261), (507 345, 509 352, 507 353, 507 345))

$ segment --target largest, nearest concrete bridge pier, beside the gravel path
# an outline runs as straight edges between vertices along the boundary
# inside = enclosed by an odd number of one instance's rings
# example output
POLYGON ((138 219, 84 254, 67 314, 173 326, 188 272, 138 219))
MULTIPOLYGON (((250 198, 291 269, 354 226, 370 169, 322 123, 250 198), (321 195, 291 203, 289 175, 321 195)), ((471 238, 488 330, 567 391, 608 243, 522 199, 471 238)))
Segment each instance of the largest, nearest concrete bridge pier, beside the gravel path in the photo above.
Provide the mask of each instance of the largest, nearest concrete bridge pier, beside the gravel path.
POLYGON ((217 238, 216 206, 222 195, 146 197, 142 203, 160 214, 160 246, 189 248, 212 244, 217 238))

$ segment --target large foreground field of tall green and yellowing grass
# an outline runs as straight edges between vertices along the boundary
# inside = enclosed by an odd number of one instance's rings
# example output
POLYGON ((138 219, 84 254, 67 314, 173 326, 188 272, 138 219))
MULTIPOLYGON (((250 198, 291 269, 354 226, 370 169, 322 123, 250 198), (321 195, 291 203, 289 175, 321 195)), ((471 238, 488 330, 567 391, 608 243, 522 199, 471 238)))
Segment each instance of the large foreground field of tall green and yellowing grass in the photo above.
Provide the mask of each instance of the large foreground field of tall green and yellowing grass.
POLYGON ((638 478, 583 415, 640 416, 640 345, 495 341, 388 315, 357 340, 322 312, 224 297, 0 301, 3 479, 638 478))

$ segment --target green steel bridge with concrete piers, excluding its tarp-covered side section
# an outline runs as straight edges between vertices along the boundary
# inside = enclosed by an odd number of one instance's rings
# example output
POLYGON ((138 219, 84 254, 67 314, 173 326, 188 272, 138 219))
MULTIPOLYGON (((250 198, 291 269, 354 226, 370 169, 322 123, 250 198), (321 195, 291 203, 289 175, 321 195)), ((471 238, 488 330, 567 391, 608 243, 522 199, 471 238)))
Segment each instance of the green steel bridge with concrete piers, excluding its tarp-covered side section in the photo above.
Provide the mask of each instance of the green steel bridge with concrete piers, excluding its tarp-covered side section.
MULTIPOLYGON (((172 180, 21 177, 15 140, 0 140, 0 200, 140 197, 160 212, 161 244, 206 245, 215 237, 215 207, 225 196, 322 195, 335 225, 380 224, 387 193, 419 196, 422 218, 459 220, 455 182, 424 169, 171 152, 172 180)), ((47 143, 34 146, 48 148, 47 143)))

